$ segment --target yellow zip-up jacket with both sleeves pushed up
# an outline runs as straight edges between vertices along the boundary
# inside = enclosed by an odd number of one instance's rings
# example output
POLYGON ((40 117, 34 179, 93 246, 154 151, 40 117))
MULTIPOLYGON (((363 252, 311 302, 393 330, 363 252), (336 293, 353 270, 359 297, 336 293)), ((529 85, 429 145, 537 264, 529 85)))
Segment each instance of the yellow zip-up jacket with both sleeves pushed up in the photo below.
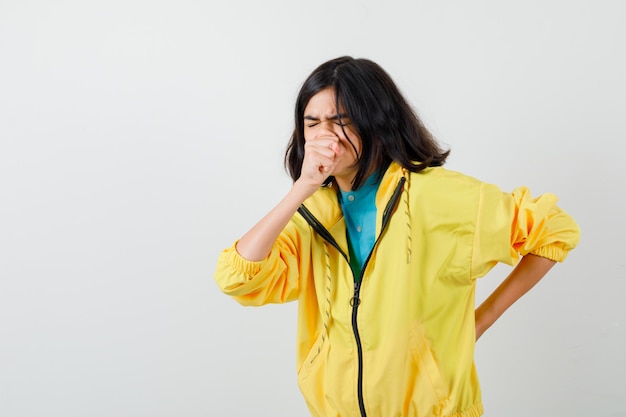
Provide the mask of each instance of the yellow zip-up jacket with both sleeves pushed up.
POLYGON ((476 278, 528 253, 563 261, 579 229, 556 201, 392 163, 361 280, 333 187, 305 201, 264 261, 223 251, 215 279, 243 305, 298 300, 298 384, 313 416, 477 417, 476 278))

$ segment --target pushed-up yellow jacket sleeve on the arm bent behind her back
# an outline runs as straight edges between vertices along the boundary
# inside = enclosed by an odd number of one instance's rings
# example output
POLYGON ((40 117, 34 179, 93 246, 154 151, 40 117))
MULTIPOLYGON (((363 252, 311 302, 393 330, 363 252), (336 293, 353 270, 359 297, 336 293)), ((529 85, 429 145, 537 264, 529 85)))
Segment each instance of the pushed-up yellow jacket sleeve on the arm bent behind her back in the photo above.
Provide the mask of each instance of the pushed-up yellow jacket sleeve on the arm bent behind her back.
POLYGON ((497 262, 513 265, 519 255, 533 254, 562 262, 580 238, 572 217, 556 205, 557 197, 546 193, 533 198, 527 187, 503 193, 482 184, 472 275, 487 273, 497 262))

